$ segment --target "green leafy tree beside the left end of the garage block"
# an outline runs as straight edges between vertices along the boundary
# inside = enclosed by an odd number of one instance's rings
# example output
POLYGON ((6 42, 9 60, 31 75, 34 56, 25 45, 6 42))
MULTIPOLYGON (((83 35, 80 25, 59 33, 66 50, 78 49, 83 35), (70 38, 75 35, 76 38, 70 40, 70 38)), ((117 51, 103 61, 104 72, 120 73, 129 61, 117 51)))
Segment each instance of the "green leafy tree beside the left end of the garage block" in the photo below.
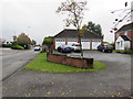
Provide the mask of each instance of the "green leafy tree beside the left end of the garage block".
POLYGON ((53 36, 44 37, 42 45, 47 45, 50 53, 52 53, 53 51, 52 44, 53 44, 53 36))

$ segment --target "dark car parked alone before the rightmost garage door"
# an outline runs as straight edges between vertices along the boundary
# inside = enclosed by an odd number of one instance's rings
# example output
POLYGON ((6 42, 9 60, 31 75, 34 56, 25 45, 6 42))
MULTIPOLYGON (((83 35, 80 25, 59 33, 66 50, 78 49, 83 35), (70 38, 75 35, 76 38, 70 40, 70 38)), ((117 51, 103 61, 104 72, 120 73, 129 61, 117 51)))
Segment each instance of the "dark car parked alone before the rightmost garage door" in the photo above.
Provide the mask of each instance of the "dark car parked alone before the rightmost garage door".
POLYGON ((98 51, 112 53, 113 52, 113 46, 110 45, 110 44, 100 44, 98 46, 98 51))

